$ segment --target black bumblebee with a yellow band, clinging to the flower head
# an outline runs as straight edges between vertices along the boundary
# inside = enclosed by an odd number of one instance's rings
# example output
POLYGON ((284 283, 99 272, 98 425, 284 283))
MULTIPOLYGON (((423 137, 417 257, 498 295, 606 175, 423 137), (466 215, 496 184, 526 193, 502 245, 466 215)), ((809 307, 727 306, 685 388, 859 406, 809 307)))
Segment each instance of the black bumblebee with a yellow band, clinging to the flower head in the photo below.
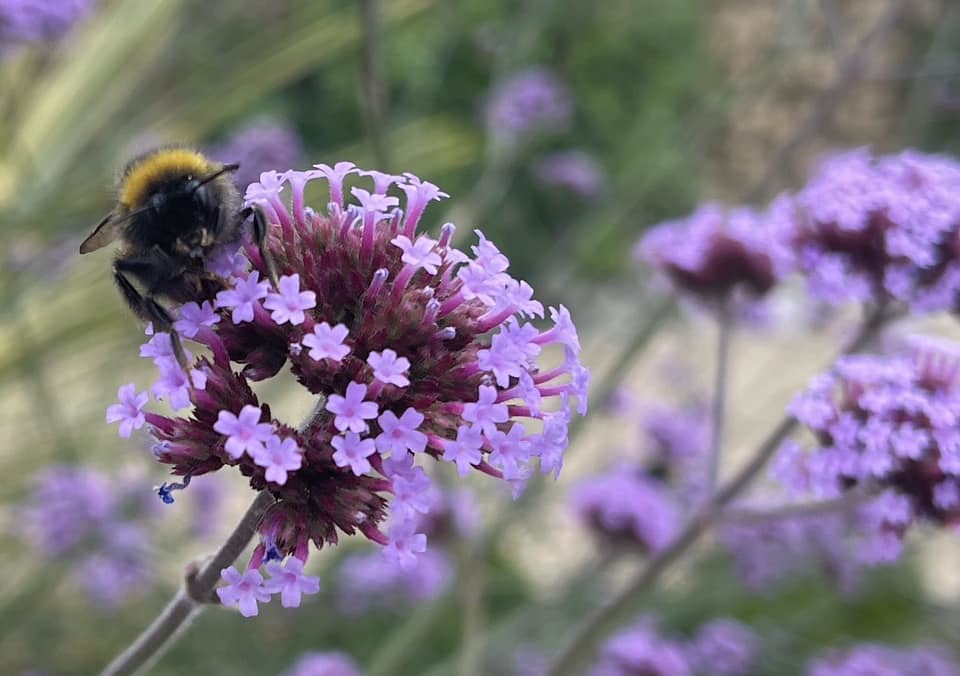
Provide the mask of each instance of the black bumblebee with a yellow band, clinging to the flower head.
POLYGON ((267 220, 260 209, 242 208, 230 178, 239 166, 183 147, 158 148, 135 157, 120 173, 113 210, 80 245, 85 254, 120 241, 113 262, 120 293, 137 317, 170 335, 184 367, 173 317, 160 301, 200 303, 225 288, 204 261, 220 247, 238 245, 251 216, 253 240, 277 286, 265 246, 267 220))

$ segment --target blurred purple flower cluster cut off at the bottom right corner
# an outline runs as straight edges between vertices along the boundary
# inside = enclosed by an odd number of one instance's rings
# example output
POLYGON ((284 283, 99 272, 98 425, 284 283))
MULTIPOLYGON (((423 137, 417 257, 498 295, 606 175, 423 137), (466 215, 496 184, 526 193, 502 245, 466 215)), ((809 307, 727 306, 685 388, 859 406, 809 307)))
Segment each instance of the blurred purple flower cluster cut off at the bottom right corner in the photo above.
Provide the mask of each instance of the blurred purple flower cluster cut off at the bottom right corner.
POLYGON ((960 663, 937 647, 893 648, 862 643, 830 650, 807 666, 807 676, 960 676, 960 663))

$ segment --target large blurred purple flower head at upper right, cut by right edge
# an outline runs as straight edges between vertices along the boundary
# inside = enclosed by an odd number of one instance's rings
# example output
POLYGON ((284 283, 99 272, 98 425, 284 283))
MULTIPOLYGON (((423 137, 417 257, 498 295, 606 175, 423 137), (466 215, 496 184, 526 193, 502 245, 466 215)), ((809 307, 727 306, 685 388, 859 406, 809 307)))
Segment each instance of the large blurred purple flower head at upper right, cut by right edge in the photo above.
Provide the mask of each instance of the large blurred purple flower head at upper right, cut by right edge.
POLYGON ((771 218, 810 293, 831 304, 903 301, 951 309, 960 290, 960 164, 868 149, 827 158, 771 218))

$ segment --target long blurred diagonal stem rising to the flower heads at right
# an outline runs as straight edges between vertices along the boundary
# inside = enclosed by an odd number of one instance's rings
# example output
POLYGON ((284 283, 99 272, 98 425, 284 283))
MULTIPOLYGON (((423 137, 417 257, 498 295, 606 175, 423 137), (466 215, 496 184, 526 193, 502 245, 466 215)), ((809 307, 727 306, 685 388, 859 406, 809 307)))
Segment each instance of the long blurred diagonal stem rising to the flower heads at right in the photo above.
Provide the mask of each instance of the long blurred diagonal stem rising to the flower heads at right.
MULTIPOLYGON (((841 355, 857 352, 877 335, 892 315, 883 308, 871 313, 853 339, 844 347, 841 355)), ((557 656, 546 671, 546 676, 564 676, 581 673, 580 667, 589 659, 596 644, 619 625, 623 616, 653 587, 660 576, 693 545, 714 522, 724 508, 760 474, 787 436, 797 426, 795 418, 786 417, 764 440, 747 465, 730 479, 687 522, 686 527, 674 541, 634 577, 627 586, 588 618, 576 632, 567 647, 557 656)))

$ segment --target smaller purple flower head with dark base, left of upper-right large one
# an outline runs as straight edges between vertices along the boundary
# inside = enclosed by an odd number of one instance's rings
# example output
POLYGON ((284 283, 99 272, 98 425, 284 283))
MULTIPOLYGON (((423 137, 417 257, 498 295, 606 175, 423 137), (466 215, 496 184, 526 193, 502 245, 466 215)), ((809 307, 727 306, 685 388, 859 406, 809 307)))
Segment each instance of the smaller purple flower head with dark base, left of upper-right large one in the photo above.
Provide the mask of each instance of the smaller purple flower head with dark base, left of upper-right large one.
POLYGON ((651 229, 635 254, 673 288, 708 303, 764 296, 790 270, 790 255, 765 217, 708 203, 651 229))

